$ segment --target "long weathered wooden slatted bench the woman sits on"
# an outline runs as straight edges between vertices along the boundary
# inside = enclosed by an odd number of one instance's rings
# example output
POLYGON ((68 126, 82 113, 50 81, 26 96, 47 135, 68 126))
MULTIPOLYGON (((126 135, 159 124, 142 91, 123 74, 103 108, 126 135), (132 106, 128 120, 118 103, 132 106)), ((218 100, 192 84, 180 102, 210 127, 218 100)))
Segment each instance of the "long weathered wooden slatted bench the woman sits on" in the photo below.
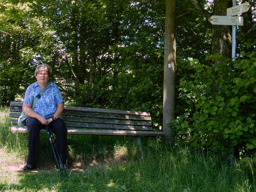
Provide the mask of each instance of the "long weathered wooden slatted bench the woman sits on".
MULTIPOLYGON (((17 126, 22 111, 22 102, 10 102, 9 123, 13 133, 27 133, 26 126, 17 126)), ((150 113, 65 106, 61 115, 68 134, 113 135, 113 136, 164 136, 152 127, 150 113)), ((40 133, 46 133, 41 129, 40 133)), ((138 137, 141 148, 141 140, 138 137)))

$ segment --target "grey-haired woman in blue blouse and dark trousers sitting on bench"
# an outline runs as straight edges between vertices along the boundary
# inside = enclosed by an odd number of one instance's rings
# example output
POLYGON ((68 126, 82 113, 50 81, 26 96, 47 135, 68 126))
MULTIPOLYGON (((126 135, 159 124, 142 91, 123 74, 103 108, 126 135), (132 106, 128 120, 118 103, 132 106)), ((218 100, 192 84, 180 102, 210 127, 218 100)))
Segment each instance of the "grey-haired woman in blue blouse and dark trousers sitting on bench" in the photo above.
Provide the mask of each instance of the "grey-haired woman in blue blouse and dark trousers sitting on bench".
POLYGON ((40 129, 48 125, 56 134, 56 148, 61 156, 61 162, 66 164, 66 124, 59 118, 64 109, 64 99, 61 96, 58 86, 49 82, 51 75, 50 67, 47 64, 37 66, 35 69, 36 82, 29 85, 23 100, 22 110, 29 117, 26 119, 28 127, 28 158, 24 170, 28 171, 36 166, 38 158, 38 143, 40 129), (46 87, 42 96, 40 92, 46 87), (38 101, 32 109, 33 100, 38 97, 38 101))

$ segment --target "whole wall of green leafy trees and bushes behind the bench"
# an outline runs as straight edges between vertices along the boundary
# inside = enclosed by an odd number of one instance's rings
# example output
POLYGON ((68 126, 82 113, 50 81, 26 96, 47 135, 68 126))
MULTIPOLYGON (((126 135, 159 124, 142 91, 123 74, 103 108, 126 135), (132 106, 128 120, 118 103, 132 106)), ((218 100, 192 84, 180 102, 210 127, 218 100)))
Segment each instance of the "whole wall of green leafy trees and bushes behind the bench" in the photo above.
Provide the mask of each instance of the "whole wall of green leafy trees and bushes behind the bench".
MULTIPOLYGON (((197 2, 209 14, 222 3, 197 2)), ((164 10, 163 0, 0 0, 0 105, 21 101, 45 62, 66 105, 147 111, 160 129, 164 10)), ((177 1, 177 142, 255 149, 255 9, 237 27, 235 63, 206 58, 212 26, 193 10, 177 1)))

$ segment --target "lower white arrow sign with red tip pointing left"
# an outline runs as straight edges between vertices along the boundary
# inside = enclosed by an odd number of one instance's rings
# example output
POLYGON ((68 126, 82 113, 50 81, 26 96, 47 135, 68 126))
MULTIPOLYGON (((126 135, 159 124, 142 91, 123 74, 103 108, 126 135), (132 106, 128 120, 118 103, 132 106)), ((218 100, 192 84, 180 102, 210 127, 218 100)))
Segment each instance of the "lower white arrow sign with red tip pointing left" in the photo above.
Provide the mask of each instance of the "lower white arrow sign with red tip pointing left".
POLYGON ((213 25, 235 25, 235 26, 243 26, 244 19, 242 16, 220 16, 220 15, 212 15, 209 18, 209 21, 213 25))

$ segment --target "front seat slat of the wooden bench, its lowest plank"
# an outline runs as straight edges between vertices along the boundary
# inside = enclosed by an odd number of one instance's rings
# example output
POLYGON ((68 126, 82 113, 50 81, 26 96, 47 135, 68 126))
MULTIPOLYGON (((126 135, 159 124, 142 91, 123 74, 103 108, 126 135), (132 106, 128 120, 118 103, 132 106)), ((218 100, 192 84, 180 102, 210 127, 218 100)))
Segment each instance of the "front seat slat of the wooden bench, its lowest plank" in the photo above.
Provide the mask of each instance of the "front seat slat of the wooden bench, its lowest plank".
MULTIPOLYGON (((10 131, 13 133, 27 133, 27 127, 11 126, 10 131)), ((45 129, 41 129, 40 133, 46 133, 45 129)), ((122 131, 122 130, 95 130, 95 129, 68 129, 68 134, 83 135, 115 135, 115 136, 163 136, 160 131, 122 131)))

